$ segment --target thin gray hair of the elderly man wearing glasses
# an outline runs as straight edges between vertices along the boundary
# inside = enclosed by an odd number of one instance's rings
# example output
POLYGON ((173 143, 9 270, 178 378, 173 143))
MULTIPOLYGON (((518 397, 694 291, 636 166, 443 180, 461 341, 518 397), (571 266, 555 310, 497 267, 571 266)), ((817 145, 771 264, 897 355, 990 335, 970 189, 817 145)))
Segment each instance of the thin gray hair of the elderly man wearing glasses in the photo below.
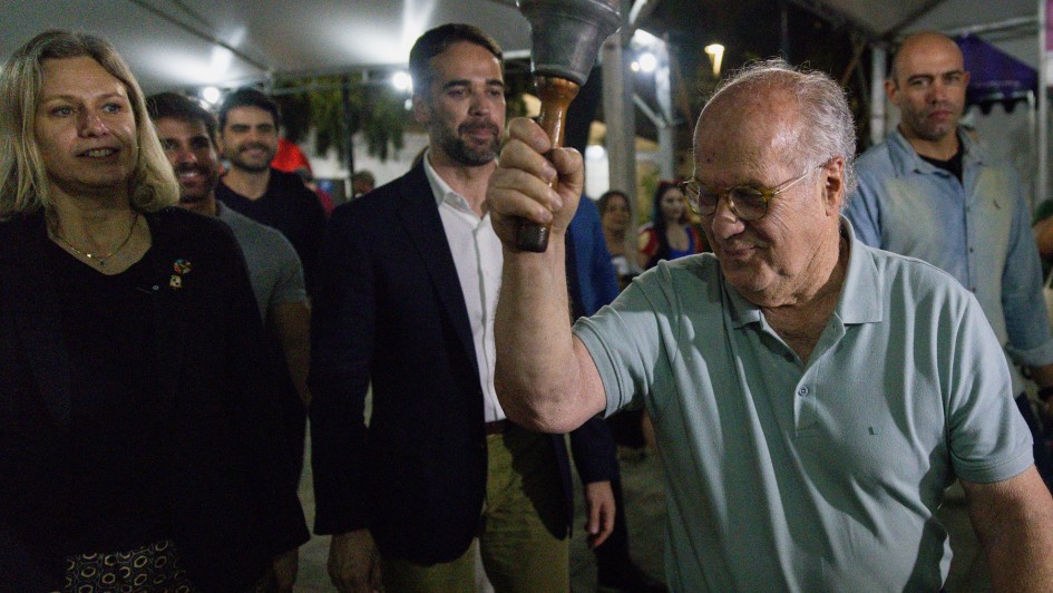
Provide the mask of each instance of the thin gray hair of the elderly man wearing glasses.
POLYGON ((818 70, 790 66, 781 58, 757 61, 723 80, 709 103, 721 95, 751 87, 789 91, 800 106, 800 146, 811 165, 839 156, 845 161, 845 196, 856 189, 856 125, 845 90, 818 70))

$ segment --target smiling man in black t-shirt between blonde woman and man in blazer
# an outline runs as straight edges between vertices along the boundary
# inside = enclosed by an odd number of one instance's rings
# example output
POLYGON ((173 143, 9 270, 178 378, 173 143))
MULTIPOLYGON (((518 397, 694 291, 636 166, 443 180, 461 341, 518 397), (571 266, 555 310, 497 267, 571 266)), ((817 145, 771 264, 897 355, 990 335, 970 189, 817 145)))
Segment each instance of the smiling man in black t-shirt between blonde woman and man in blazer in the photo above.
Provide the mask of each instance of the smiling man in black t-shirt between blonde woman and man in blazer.
POLYGON ((265 94, 243 88, 227 96, 220 108, 220 148, 230 171, 220 179, 216 197, 289 239, 312 294, 325 211, 299 176, 271 167, 280 125, 277 105, 265 94))

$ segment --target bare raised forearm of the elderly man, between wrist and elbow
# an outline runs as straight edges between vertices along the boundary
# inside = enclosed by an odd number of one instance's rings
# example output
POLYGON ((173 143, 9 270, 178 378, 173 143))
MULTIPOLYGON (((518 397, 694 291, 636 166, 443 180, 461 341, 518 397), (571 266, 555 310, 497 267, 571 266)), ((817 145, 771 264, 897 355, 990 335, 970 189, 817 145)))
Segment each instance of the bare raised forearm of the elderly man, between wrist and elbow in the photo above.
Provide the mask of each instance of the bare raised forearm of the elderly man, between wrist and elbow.
POLYGON ((505 412, 529 428, 567 432, 576 421, 579 372, 574 354, 565 245, 552 236, 546 253, 505 251, 495 318, 495 383, 505 412))

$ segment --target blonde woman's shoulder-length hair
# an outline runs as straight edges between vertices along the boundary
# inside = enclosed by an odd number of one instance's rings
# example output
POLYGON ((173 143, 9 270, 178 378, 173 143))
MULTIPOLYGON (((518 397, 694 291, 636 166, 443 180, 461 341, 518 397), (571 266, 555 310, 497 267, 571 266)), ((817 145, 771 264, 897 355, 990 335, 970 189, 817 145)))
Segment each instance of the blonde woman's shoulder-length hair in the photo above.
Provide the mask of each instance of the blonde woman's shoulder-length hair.
POLYGON ((143 90, 114 46, 100 37, 47 31, 19 48, 0 70, 0 218, 55 207, 33 133, 45 60, 88 57, 120 80, 131 104, 139 154, 129 183, 131 207, 154 212, 178 202, 179 185, 146 113, 143 90))

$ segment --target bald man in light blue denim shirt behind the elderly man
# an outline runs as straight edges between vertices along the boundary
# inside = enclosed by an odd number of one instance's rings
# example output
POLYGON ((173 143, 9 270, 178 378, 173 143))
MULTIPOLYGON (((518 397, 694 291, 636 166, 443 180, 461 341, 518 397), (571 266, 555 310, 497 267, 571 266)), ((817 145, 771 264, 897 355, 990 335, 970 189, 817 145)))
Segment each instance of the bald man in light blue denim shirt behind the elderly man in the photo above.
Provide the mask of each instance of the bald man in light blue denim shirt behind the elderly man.
POLYGON ((954 275, 979 301, 1010 367, 1032 429, 1035 465, 1053 485, 1049 450, 1024 393, 1024 375, 1053 397, 1053 337, 1031 214, 1013 168, 986 155, 958 120, 969 74, 947 37, 915 33, 893 60, 885 91, 900 123, 858 163, 847 216, 868 245, 910 255, 954 275))

